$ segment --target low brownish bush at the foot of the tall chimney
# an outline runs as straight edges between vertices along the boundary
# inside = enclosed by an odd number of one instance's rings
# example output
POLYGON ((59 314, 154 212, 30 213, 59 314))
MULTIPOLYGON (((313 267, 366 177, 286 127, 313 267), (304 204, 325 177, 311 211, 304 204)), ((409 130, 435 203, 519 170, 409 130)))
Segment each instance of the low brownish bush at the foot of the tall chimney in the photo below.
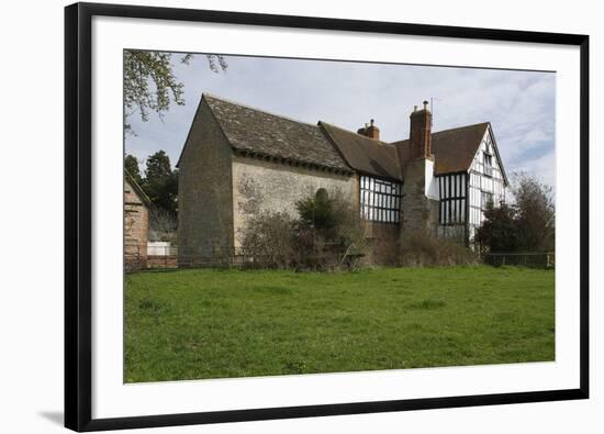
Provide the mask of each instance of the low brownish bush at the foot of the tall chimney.
POLYGON ((433 267, 476 265, 478 256, 458 243, 438 238, 424 231, 405 233, 401 240, 401 265, 407 267, 433 267))

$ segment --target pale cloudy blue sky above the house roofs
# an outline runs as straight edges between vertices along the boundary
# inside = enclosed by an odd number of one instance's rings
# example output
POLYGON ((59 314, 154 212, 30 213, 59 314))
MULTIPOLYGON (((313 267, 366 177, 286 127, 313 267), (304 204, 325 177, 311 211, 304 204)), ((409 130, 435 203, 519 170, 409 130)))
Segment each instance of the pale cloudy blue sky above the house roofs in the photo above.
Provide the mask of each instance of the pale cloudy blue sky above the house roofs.
POLYGON ((128 119, 136 135, 126 135, 126 153, 142 164, 159 149, 176 164, 203 92, 350 131, 374 119, 385 142, 409 138, 413 107, 432 100, 433 132, 489 121, 508 176, 523 170, 556 186, 555 73, 225 56, 227 70, 215 74, 203 55, 189 65, 180 57, 172 65, 186 104, 128 119))

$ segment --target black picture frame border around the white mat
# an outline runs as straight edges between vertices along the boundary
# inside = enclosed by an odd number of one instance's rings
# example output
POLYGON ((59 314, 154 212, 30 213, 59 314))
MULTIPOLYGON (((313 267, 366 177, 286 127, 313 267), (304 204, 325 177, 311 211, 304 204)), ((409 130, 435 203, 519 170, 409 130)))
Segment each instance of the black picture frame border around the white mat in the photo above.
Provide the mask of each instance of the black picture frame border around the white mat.
POLYGON ((589 36, 189 10, 75 3, 65 9, 65 426, 99 431, 403 410, 586 399, 589 397, 589 36), (580 387, 516 393, 92 419, 91 386, 91 21, 94 15, 440 36, 580 47, 580 387))

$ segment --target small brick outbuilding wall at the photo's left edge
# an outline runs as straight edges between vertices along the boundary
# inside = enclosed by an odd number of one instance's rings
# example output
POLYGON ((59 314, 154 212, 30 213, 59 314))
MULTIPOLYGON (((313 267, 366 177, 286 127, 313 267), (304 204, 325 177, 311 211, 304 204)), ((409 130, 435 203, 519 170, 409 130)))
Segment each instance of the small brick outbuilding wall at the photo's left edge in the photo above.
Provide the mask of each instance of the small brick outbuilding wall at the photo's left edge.
POLYGON ((126 269, 147 266, 149 211, 132 185, 124 179, 124 260, 126 269))

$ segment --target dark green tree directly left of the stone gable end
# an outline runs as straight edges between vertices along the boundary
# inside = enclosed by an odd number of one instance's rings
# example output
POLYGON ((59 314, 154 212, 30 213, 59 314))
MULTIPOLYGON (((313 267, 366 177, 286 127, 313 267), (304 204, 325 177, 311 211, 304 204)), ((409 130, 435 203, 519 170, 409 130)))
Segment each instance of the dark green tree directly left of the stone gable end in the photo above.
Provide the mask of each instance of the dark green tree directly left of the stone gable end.
POLYGON ((154 205, 176 214, 178 170, 172 170, 166 152, 158 151, 147 158, 143 188, 154 205))

